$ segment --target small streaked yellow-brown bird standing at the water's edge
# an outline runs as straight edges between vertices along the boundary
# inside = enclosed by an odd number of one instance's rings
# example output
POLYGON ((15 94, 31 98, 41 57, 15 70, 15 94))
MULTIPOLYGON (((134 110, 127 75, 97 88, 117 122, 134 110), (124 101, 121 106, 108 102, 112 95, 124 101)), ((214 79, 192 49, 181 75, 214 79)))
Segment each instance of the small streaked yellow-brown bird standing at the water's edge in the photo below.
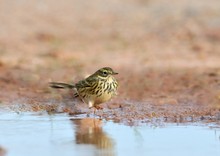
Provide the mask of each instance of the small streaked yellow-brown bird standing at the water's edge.
POLYGON ((79 96, 84 103, 88 104, 89 108, 98 109, 99 104, 107 102, 117 95, 118 81, 114 78, 114 75, 117 74, 112 68, 103 67, 75 84, 50 82, 50 87, 74 89, 75 97, 79 96))

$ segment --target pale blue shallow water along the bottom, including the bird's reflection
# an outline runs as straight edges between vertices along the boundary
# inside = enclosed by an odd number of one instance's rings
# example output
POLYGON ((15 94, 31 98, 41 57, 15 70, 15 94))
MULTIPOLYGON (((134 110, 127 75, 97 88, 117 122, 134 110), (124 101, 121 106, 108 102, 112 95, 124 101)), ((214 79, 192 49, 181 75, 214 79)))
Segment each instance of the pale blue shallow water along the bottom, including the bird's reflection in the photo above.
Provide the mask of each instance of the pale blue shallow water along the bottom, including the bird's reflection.
POLYGON ((220 129, 205 124, 123 124, 83 116, 1 113, 8 156, 219 156, 220 129))

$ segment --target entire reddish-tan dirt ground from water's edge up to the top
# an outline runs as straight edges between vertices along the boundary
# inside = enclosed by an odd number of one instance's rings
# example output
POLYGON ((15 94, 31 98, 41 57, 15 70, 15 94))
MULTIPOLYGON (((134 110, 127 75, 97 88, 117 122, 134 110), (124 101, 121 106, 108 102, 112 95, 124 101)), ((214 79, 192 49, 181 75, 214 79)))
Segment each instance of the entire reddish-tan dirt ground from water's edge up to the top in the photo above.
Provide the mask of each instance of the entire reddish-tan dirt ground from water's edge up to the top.
POLYGON ((106 120, 220 121, 219 0, 15 0, 0 5, 0 105, 90 113, 71 91, 101 67, 119 72, 106 120))

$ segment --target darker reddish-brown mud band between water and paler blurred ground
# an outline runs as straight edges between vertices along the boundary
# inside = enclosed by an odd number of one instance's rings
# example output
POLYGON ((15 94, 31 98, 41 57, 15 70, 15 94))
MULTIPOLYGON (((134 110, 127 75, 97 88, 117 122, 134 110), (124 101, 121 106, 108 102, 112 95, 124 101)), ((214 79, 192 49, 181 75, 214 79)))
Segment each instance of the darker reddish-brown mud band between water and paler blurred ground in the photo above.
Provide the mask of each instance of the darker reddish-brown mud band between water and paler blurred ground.
MULTIPOLYGON (((123 69, 120 71, 126 73, 123 69)), ((72 90, 51 89, 46 80, 27 84, 19 78, 19 72, 18 69, 1 72, 2 107, 16 112, 94 115, 93 109, 73 97, 72 90), (10 77, 7 73, 14 75, 10 77)), ((120 83, 117 97, 101 104, 102 109, 97 110, 95 116, 127 124, 137 121, 219 122, 219 75, 216 70, 147 70, 127 74, 126 79, 124 74, 117 77, 120 83)))

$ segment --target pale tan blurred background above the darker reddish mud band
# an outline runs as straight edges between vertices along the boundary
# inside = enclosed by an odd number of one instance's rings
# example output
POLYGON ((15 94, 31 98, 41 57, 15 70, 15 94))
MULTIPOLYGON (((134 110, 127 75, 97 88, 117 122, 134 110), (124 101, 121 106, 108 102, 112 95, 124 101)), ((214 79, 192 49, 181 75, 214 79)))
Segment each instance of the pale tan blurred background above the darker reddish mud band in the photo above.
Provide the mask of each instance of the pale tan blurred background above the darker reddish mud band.
POLYGON ((219 10, 218 0, 1 0, 1 62, 215 67, 219 10))

